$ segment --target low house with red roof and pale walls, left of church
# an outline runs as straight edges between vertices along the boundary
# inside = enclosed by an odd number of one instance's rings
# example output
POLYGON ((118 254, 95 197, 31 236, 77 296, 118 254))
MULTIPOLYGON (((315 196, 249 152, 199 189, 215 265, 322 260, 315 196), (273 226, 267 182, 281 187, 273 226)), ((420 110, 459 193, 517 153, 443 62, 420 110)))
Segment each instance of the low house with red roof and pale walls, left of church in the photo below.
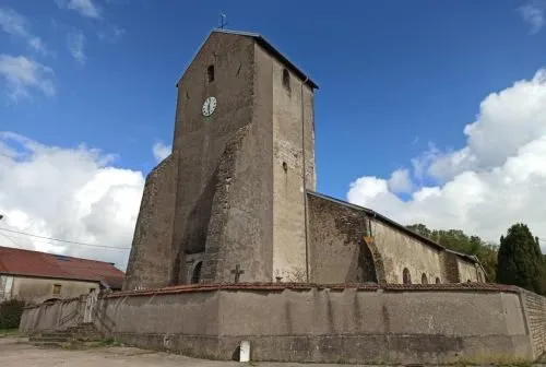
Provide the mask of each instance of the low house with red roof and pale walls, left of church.
POLYGON ((90 292, 119 291, 124 273, 114 263, 0 247, 0 301, 39 304, 90 292))

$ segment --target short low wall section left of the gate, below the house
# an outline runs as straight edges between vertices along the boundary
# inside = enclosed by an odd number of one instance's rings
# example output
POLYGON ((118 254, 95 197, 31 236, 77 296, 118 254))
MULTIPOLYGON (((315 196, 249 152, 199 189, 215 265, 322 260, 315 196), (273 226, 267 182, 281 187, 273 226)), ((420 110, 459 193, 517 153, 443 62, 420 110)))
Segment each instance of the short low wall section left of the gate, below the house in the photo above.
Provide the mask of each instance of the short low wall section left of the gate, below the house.
POLYGON ((23 311, 19 330, 23 334, 32 334, 35 331, 73 327, 83 315, 84 303, 85 297, 78 297, 28 306, 23 311))

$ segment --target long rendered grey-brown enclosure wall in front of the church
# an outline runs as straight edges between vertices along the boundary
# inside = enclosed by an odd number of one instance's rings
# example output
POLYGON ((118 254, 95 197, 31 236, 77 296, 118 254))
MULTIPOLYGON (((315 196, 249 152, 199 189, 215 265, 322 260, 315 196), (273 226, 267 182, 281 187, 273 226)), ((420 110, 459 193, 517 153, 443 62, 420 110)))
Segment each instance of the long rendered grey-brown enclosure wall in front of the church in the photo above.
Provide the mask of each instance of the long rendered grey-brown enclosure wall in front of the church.
POLYGON ((544 306, 531 311, 537 299, 476 283, 193 285, 110 294, 96 324, 128 344, 213 359, 232 359, 249 341, 252 360, 531 360, 545 343, 544 306))

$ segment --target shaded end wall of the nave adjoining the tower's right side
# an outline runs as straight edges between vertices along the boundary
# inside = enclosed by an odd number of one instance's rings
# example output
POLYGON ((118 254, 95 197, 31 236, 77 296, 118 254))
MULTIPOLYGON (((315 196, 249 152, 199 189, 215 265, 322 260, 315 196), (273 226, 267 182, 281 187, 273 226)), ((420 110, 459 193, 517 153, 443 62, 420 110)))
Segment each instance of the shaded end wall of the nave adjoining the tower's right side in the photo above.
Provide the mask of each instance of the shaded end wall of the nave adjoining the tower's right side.
POLYGON ((308 194, 307 202, 310 281, 324 284, 377 282, 376 269, 379 268, 381 275, 382 264, 377 257, 373 261, 372 251, 361 240, 367 235, 364 212, 313 193, 308 194))

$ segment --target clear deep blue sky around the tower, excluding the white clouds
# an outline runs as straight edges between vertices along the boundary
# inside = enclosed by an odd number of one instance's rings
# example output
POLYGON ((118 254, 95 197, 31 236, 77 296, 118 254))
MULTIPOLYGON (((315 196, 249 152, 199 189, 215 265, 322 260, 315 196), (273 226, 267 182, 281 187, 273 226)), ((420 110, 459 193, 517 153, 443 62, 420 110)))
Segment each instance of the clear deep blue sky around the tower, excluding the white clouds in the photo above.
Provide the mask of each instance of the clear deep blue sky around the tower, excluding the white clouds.
MULTIPOLYGON (((361 175, 389 175, 429 142, 464 144, 479 102, 545 62, 518 1, 95 1, 100 19, 55 1, 3 1, 55 49, 36 55, 55 71, 56 95, 0 106, 2 130, 45 144, 85 142, 149 170, 150 146, 169 142, 175 83, 218 22, 263 34, 319 83, 319 190, 343 198, 361 175), (116 42, 97 34, 123 29, 116 42), (81 29, 85 63, 67 49, 81 29)), ((26 55, 2 34, 1 50, 26 55)))

